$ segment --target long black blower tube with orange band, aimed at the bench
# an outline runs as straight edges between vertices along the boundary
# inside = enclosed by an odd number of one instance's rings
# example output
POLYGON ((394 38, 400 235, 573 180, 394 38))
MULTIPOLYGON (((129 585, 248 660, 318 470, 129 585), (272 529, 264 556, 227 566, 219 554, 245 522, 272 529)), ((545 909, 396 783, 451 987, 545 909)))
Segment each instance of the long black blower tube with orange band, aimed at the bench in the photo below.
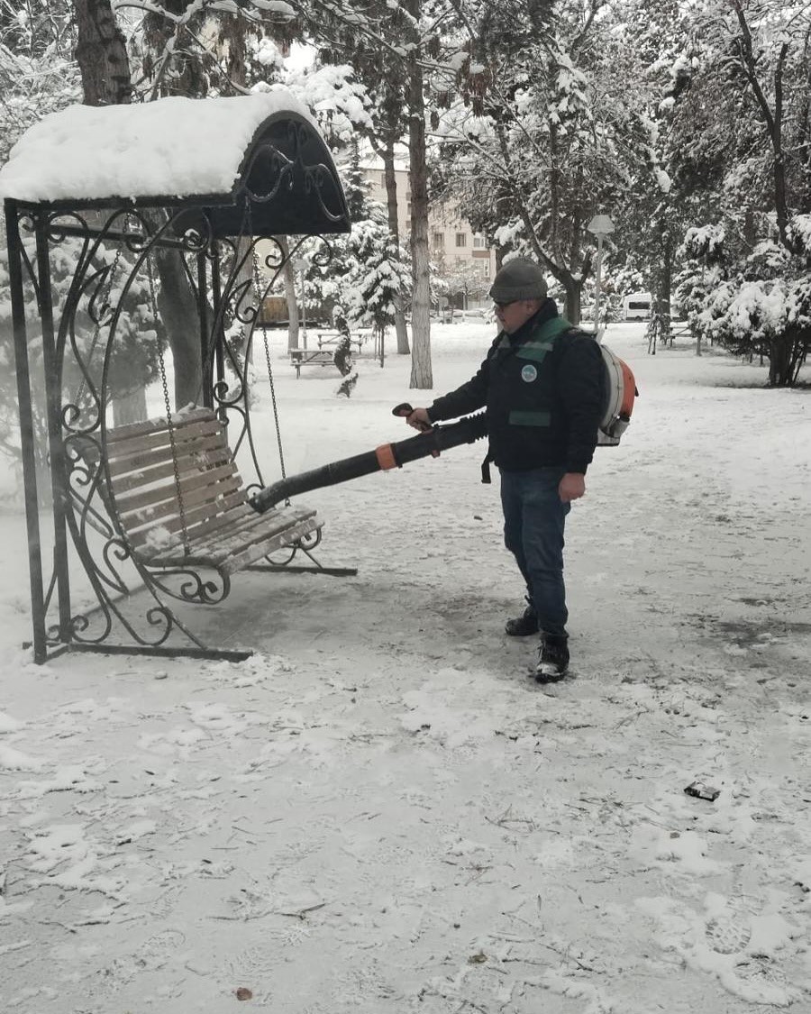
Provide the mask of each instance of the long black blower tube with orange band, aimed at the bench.
POLYGON ((312 468, 310 472, 282 479, 260 490, 248 503, 259 514, 264 514, 288 497, 309 493, 310 490, 319 490, 324 486, 335 486, 337 483, 346 483, 351 479, 360 479, 361 476, 368 476, 373 472, 401 468, 403 464, 417 461, 429 454, 436 455, 450 447, 458 447, 459 444, 473 443, 486 434, 485 413, 481 412, 475 416, 460 419, 458 423, 451 423, 450 426, 434 426, 427 432, 410 437, 408 440, 383 444, 364 454, 345 457, 341 461, 321 465, 320 468, 312 468))

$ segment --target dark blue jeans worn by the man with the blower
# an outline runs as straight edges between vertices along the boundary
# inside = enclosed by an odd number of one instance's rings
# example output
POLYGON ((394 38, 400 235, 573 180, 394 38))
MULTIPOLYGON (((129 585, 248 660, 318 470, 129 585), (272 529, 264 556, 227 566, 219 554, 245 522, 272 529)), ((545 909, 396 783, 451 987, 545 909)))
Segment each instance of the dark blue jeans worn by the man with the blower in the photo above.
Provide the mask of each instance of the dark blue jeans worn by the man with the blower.
POLYGON ((527 595, 544 634, 567 637, 564 526, 571 504, 563 503, 561 467, 502 472, 504 544, 515 556, 527 595))

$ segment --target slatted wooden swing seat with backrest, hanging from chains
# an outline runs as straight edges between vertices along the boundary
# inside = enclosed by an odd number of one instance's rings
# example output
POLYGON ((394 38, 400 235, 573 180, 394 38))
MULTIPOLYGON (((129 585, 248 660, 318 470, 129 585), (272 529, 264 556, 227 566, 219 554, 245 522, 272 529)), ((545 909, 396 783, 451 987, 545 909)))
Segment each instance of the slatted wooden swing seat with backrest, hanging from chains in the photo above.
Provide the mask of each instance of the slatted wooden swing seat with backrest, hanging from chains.
POLYGON ((211 409, 107 431, 106 498, 146 566, 212 567, 223 576, 320 530, 315 511, 256 514, 226 430, 211 409))

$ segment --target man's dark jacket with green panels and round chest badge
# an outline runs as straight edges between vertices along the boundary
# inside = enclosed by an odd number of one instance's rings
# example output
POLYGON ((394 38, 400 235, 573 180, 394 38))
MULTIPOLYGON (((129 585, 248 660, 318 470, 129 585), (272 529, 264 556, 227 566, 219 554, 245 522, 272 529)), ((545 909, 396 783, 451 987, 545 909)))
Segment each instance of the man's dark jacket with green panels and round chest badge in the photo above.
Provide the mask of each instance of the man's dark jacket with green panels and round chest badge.
POLYGON ((477 373, 428 410, 432 422, 487 408, 490 456, 507 472, 544 465, 585 475, 605 400, 594 339, 554 300, 514 335, 500 332, 477 373))

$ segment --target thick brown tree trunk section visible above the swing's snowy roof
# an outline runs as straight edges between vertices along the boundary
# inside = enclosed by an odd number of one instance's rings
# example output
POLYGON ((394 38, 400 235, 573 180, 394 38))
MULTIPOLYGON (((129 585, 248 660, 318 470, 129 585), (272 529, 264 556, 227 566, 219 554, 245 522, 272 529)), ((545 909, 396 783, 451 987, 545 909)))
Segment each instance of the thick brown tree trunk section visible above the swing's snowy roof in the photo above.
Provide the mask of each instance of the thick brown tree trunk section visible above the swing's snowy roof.
POLYGON ((76 62, 85 105, 121 105, 132 99, 130 60, 110 0, 75 0, 76 62))

